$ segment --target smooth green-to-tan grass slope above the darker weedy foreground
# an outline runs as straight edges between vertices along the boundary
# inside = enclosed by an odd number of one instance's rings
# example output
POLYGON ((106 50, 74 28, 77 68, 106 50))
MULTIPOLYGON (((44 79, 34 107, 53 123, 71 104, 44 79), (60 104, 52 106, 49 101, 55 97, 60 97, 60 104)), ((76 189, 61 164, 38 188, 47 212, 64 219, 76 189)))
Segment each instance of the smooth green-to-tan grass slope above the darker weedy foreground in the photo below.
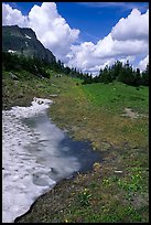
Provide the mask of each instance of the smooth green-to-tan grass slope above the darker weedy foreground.
POLYGON ((72 130, 77 139, 90 139, 97 149, 103 150, 107 141, 148 144, 148 87, 138 89, 121 83, 69 86, 51 111, 57 125, 72 130), (127 117, 127 108, 138 117, 127 117))

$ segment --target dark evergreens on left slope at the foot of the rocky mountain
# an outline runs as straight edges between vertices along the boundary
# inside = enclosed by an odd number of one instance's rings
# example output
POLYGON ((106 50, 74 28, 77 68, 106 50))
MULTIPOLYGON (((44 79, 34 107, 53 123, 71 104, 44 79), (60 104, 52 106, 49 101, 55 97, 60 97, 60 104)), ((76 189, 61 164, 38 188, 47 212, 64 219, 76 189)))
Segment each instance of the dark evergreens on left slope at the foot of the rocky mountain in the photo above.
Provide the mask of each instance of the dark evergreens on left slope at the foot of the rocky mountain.
POLYGON ((22 54, 13 54, 8 52, 2 52, 2 68, 6 71, 28 71, 31 74, 36 76, 43 76, 50 78, 48 69, 54 71, 56 73, 63 73, 73 77, 83 78, 84 74, 82 71, 76 68, 69 68, 68 66, 64 66, 64 64, 58 60, 52 61, 48 63, 44 60, 37 57, 26 57, 22 54))

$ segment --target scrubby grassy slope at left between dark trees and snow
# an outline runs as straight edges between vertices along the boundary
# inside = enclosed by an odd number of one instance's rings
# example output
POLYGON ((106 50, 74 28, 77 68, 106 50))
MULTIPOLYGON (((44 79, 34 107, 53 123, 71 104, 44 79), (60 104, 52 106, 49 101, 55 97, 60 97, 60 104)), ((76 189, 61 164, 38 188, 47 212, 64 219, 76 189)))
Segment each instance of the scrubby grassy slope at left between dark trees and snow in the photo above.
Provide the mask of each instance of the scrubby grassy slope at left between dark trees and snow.
MULTIPOLYGON (((33 97, 50 98, 58 94, 58 88, 50 78, 40 78, 26 71, 12 72, 18 78, 11 78, 11 72, 2 71, 2 108, 12 106, 29 106, 33 97)), ((50 73, 50 76, 52 73, 50 73)), ((53 73, 55 76, 55 73, 53 73)))

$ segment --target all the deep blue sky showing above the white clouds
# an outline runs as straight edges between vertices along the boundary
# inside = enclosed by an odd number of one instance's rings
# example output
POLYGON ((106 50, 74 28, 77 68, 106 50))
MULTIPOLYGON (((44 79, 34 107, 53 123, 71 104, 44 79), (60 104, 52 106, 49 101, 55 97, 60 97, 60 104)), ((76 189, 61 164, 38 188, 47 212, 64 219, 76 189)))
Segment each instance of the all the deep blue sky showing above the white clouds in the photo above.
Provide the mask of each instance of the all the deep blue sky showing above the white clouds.
MULTIPOLYGON (((80 30, 82 41, 97 42, 107 35, 121 18, 127 18, 133 8, 147 11, 149 2, 55 2, 58 13, 71 28, 80 30), (98 21, 96 23, 96 21, 98 21), (94 25, 95 24, 95 25, 94 25)), ((9 2, 28 15, 34 4, 42 2, 9 2)))

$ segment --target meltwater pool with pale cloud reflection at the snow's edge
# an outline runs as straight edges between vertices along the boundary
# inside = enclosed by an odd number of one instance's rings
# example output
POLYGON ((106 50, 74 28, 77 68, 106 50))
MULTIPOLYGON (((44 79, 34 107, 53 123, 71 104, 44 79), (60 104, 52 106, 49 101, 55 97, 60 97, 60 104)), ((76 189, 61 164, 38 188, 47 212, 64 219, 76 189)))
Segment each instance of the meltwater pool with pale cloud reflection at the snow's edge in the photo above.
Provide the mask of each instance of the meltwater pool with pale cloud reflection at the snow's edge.
MULTIPOLYGON (((76 171, 86 172, 93 168, 94 162, 100 161, 100 154, 91 149, 90 142, 71 139, 51 122, 46 114, 23 121, 34 130, 36 137, 36 142, 25 148, 36 157, 37 163, 51 167, 48 172, 51 179, 58 181, 76 171)), ((36 182, 35 176, 34 182, 36 182)))

